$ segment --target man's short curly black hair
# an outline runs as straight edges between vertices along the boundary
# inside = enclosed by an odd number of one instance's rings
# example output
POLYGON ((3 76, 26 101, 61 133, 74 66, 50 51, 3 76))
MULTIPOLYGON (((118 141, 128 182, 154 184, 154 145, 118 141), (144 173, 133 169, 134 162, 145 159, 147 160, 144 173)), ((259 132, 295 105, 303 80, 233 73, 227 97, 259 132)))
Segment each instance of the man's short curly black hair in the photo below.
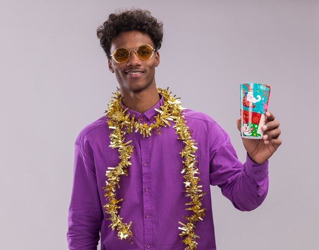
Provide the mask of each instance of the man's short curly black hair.
POLYGON ((100 45, 108 58, 111 55, 112 40, 126 31, 141 31, 150 37, 156 50, 161 48, 163 22, 157 21, 148 10, 132 9, 110 14, 109 19, 96 31, 97 37, 100 39, 100 45))

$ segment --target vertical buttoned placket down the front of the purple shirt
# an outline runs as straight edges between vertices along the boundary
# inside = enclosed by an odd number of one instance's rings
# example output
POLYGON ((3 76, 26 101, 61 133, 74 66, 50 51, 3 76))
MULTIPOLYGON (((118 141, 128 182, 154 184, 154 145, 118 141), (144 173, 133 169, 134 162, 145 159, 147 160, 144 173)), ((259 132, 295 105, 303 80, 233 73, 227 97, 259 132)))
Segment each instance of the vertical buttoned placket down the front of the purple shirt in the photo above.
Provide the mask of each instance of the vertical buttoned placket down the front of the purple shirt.
MULTIPOLYGON (((145 117, 141 116, 140 121, 145 120, 145 117)), ((152 245, 152 211, 151 211, 151 192, 150 192, 150 165, 149 165, 149 145, 148 141, 151 136, 145 137, 141 135, 141 166, 142 166, 142 182, 143 182, 143 209, 144 209, 144 242, 145 247, 151 248, 152 245)))

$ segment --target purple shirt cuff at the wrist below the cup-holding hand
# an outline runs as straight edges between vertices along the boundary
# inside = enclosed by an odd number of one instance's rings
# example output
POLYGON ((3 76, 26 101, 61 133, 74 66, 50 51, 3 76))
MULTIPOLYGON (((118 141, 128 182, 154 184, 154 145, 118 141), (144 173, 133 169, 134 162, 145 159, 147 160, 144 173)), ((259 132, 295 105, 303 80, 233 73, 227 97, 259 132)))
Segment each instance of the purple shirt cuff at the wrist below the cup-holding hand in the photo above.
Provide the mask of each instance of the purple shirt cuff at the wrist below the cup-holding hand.
POLYGON ((255 180, 257 183, 268 177, 268 160, 263 164, 253 162, 248 154, 246 156, 245 172, 248 178, 255 180))

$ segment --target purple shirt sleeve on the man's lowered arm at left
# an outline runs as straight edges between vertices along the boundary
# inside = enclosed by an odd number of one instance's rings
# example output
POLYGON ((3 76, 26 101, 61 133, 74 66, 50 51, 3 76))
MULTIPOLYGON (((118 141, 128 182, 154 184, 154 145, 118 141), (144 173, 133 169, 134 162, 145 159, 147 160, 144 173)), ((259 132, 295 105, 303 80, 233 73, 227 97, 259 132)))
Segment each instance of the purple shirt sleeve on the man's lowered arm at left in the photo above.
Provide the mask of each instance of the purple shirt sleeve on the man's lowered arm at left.
POLYGON ((84 139, 77 139, 75 142, 73 174, 67 232, 69 249, 96 250, 103 212, 92 148, 84 139))

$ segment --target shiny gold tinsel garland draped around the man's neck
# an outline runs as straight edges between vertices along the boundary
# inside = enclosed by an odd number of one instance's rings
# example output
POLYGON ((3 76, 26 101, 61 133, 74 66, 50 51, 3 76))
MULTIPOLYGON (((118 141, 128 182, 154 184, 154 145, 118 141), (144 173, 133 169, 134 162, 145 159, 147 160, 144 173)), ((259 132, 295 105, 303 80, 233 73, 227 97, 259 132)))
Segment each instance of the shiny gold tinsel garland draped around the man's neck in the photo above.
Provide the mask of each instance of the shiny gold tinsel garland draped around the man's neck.
POLYGON ((122 218, 118 215, 118 209, 121 206, 118 205, 123 199, 116 198, 116 189, 120 188, 119 181, 120 176, 127 176, 127 167, 131 165, 130 157, 133 153, 133 146, 130 145, 132 141, 125 142, 125 134, 130 134, 132 132, 140 132, 143 136, 150 136, 152 130, 161 129, 161 127, 171 126, 170 121, 175 123, 173 128, 176 130, 176 134, 179 135, 178 139, 183 141, 184 148, 181 151, 181 157, 183 159, 183 168, 181 173, 184 174, 184 185, 187 197, 190 197, 190 202, 185 204, 187 206, 186 210, 193 211, 190 217, 183 216, 187 219, 186 224, 178 221, 182 226, 178 229, 181 230, 179 234, 180 237, 185 236, 183 242, 187 245, 185 249, 196 249, 197 242, 196 238, 199 236, 195 235, 195 223, 202 217, 205 216, 204 209, 202 208, 201 200, 202 196, 205 194, 200 188, 202 186, 198 185, 200 178, 198 177, 199 172, 196 167, 196 156, 195 152, 197 143, 192 139, 189 128, 185 125, 185 120, 183 116, 183 108, 179 102, 179 98, 171 95, 167 89, 158 88, 158 92, 162 94, 164 98, 164 105, 155 109, 158 114, 156 116, 155 122, 150 125, 146 123, 141 123, 140 121, 134 121, 134 116, 129 118, 129 114, 126 114, 123 110, 122 96, 117 90, 113 99, 111 99, 108 107, 107 118, 109 123, 109 128, 112 130, 110 134, 111 143, 110 147, 118 148, 120 163, 116 167, 108 167, 106 176, 108 180, 105 181, 106 186, 104 189, 104 196, 107 198, 108 203, 103 207, 110 217, 112 230, 118 230, 119 239, 131 239, 132 232, 130 231, 131 221, 127 223, 122 222, 122 218))

